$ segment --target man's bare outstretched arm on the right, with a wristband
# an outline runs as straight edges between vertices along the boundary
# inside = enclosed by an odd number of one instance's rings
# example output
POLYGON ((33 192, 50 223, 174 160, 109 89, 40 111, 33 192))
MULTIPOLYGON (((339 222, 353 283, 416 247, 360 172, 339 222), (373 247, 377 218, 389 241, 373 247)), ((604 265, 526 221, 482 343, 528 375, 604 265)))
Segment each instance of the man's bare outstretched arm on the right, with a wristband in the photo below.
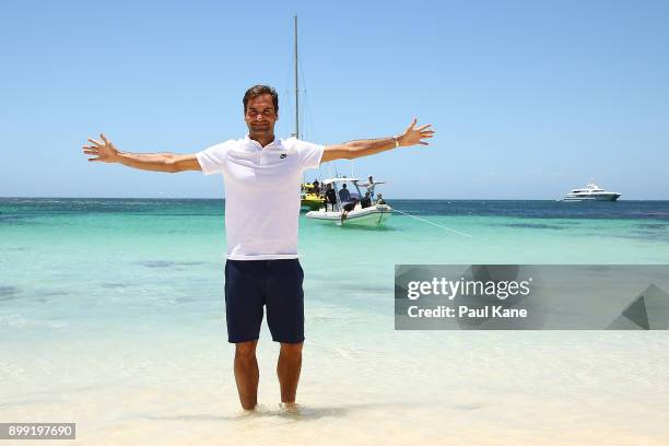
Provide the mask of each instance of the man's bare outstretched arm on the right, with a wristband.
POLYGON ((395 149, 398 146, 409 145, 429 145, 427 142, 422 141, 426 138, 434 136, 434 130, 431 130, 431 124, 415 127, 415 118, 403 133, 397 137, 379 138, 372 140, 357 140, 351 142, 344 142, 343 144, 326 145, 322 153, 321 163, 327 163, 332 160, 353 160, 361 156, 368 156, 375 153, 384 152, 386 150, 395 149))

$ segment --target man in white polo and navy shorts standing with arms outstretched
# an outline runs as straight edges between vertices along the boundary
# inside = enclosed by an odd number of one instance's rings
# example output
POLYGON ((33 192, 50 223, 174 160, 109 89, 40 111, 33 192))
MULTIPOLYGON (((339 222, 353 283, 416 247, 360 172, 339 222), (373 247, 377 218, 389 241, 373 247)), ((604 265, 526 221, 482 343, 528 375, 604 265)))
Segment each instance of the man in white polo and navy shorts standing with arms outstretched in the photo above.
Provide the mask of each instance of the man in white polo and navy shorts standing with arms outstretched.
POLYGON ((303 270, 297 260, 300 186, 303 172, 338 159, 373 155, 398 146, 427 145, 430 125, 415 119, 397 137, 322 146, 295 138, 274 138, 279 96, 267 85, 243 98, 246 138, 228 140, 193 154, 121 152, 104 134, 89 139, 83 153, 92 162, 119 163, 157 172, 201 171, 225 181, 225 318, 235 344, 234 372, 242 407, 257 404, 256 344, 263 307, 272 339, 281 343, 277 374, 281 401, 294 407, 304 342, 303 270), (258 209, 262 213, 258 213, 258 209))

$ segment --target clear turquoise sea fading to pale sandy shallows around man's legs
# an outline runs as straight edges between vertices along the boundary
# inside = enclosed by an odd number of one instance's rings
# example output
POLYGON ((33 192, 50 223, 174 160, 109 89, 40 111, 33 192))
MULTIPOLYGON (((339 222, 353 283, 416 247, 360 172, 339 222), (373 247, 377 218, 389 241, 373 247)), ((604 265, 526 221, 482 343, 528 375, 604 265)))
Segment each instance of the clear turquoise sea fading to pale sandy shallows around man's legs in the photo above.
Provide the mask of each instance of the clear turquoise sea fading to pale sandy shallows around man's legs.
POLYGON ((443 227, 301 216, 302 407, 278 408, 263 326, 247 415, 226 342, 223 200, 0 198, 0 421, 77 422, 92 444, 667 443, 666 331, 395 331, 394 271, 666 265, 669 201, 388 202, 443 227))

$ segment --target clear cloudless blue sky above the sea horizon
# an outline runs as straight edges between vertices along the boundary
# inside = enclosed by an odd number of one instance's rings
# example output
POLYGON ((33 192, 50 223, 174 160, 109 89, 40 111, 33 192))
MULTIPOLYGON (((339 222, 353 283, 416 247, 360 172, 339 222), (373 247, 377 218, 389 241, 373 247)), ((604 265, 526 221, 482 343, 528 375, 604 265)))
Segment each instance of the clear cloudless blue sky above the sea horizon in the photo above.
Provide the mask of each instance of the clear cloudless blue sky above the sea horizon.
POLYGON ((594 177, 669 199, 669 2, 596 0, 2 1, 0 196, 222 197, 220 177, 87 163, 81 145, 239 138, 256 83, 289 136, 295 13, 304 139, 434 125, 429 148, 338 162, 388 197, 554 199, 594 177))

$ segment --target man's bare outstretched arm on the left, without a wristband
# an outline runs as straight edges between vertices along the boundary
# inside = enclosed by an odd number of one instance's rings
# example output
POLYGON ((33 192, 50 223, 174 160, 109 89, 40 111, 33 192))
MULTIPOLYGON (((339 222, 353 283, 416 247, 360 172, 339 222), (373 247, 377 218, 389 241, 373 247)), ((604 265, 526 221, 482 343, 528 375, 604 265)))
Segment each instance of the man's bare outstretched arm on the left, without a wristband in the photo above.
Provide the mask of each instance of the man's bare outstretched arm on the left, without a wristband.
POLYGON ((89 138, 91 144, 83 146, 83 153, 97 156, 91 157, 89 161, 118 163, 128 167, 153 172, 176 173, 202 169, 195 154, 121 152, 104 134, 101 133, 99 138, 102 142, 89 138))

